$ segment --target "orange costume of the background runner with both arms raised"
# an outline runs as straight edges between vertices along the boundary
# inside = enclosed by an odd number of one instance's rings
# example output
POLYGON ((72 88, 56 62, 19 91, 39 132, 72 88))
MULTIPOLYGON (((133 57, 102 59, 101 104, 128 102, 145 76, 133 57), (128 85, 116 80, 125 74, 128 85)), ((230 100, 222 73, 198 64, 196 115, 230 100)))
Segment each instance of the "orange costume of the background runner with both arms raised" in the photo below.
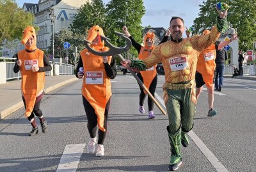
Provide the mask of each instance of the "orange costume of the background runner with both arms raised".
MULTIPOLYGON (((153 46, 148 47, 146 41, 148 38, 150 38, 150 39, 152 39, 152 41, 154 41, 154 36, 155 36, 155 34, 150 33, 150 32, 147 32, 147 34, 145 34, 145 36, 144 36, 145 47, 141 46, 141 50, 140 50, 140 54, 139 54, 140 60, 147 58, 150 55, 151 51, 153 50, 154 47, 153 46)), ((149 89, 150 84, 152 83, 152 80, 154 80, 155 76, 157 75, 156 66, 157 65, 154 65, 152 68, 147 69, 146 71, 140 71, 141 76, 143 78, 143 83, 147 87, 147 89, 149 89)), ((143 90, 143 92, 145 94, 147 94, 147 92, 145 90, 143 90)))

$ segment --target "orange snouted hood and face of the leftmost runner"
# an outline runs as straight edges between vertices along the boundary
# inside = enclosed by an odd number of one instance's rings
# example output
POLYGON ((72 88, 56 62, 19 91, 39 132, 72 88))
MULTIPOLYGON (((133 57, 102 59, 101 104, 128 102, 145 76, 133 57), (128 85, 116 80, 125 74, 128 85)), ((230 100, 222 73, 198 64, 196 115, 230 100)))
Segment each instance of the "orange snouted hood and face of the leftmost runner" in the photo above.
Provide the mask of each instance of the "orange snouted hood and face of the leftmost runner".
POLYGON ((26 50, 36 49, 36 31, 33 26, 28 26, 22 33, 22 44, 25 44, 26 50))

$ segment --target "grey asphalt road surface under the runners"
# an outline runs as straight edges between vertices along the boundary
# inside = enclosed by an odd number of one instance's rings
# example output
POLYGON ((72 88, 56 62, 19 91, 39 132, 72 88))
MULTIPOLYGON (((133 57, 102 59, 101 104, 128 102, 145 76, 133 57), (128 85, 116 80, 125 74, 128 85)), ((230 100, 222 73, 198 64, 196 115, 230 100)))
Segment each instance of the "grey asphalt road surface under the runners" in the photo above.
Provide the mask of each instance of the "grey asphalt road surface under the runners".
MULTIPOLYGON (((163 82, 164 76, 159 75, 159 97, 163 97, 163 82)), ((81 84, 79 80, 44 96, 41 109, 48 133, 29 137, 31 125, 24 109, 0 120, 1 172, 56 171, 66 145, 88 142, 81 84)), ((214 94, 218 115, 211 118, 207 117, 207 92, 202 92, 189 133, 191 144, 181 150, 179 171, 256 171, 255 90, 256 81, 225 78, 221 92, 214 94)), ((131 75, 118 75, 112 81, 112 92, 104 157, 88 154, 84 148, 81 157, 75 154, 77 168, 59 171, 168 171, 168 117, 157 106, 155 120, 139 113, 140 89, 131 75)), ((72 157, 72 152, 65 155, 72 157)))

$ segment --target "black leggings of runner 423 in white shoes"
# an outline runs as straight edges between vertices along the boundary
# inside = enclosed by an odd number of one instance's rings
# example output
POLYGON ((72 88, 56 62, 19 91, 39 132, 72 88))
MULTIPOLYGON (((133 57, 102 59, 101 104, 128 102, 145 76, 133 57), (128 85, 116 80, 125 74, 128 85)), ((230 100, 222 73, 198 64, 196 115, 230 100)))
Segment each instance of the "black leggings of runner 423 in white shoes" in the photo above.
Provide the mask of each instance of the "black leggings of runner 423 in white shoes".
MULTIPOLYGON (((83 96, 83 104, 84 104, 84 110, 87 117, 87 127, 91 138, 96 137, 96 131, 97 131, 97 115, 95 113, 95 110, 93 109, 92 105, 86 100, 86 98, 83 96)), ((107 129, 108 129, 108 111, 109 111, 109 105, 110 105, 110 98, 108 100, 108 103, 106 104, 106 110, 104 114, 104 129, 106 129, 105 132, 101 131, 99 129, 98 135, 98 144, 103 145, 104 140, 106 138, 107 129)))

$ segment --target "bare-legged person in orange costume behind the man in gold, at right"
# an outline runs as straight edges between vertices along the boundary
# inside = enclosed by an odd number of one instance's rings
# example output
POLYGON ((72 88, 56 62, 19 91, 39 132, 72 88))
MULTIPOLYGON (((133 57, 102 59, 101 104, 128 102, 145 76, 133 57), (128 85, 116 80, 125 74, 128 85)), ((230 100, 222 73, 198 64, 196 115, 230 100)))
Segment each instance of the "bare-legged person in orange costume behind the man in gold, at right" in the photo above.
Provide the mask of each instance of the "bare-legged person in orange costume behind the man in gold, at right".
MULTIPOLYGON (((209 34, 211 31, 205 30, 203 35, 209 34)), ((189 38, 190 32, 186 31, 186 35, 189 38)), ((208 114, 207 117, 213 117, 217 115, 217 111, 213 109, 214 102, 214 69, 216 67, 215 59, 216 59, 216 50, 221 50, 221 48, 227 46, 232 41, 237 39, 237 35, 235 34, 228 41, 221 42, 220 44, 212 44, 210 47, 205 48, 202 52, 200 52, 198 56, 198 61, 196 65, 196 101, 202 92, 203 85, 207 88, 208 93, 208 114)))

